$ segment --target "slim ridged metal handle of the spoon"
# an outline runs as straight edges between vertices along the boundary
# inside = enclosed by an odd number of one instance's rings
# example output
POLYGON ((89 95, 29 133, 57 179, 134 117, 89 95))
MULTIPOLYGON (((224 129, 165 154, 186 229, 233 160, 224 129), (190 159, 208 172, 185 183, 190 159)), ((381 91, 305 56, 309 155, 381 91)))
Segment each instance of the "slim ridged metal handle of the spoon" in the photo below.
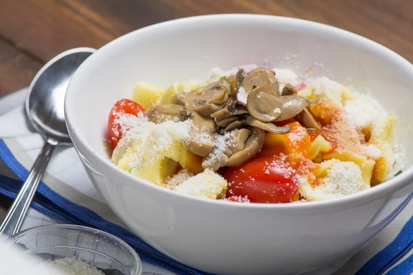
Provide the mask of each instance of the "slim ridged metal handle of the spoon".
POLYGON ((25 214, 28 212, 30 203, 32 203, 32 199, 36 193, 37 186, 39 186, 41 177, 43 177, 47 163, 58 145, 59 142, 55 140, 46 140, 45 145, 33 164, 32 170, 30 170, 27 179, 24 181, 23 186, 21 186, 19 194, 16 199, 14 199, 12 206, 10 206, 6 218, 3 223, 1 223, 1 235, 12 236, 19 232, 21 223, 23 223, 25 214))

